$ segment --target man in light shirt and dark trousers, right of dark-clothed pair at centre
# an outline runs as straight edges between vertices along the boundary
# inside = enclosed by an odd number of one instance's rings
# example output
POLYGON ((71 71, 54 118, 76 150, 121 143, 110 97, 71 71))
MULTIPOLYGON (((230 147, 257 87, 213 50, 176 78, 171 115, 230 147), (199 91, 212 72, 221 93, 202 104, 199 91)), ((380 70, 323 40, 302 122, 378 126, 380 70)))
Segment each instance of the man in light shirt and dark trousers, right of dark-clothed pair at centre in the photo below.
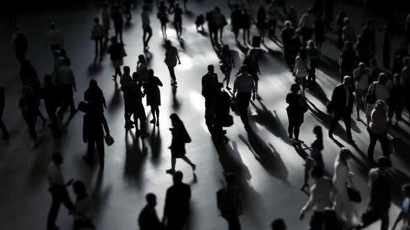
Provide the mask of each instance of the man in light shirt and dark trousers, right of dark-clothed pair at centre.
POLYGON ((236 106, 240 113, 240 119, 245 127, 248 127, 247 107, 249 107, 249 101, 255 100, 255 82, 252 76, 247 73, 246 65, 240 67, 240 73, 236 76, 235 82, 233 82, 233 98, 236 100, 236 106))

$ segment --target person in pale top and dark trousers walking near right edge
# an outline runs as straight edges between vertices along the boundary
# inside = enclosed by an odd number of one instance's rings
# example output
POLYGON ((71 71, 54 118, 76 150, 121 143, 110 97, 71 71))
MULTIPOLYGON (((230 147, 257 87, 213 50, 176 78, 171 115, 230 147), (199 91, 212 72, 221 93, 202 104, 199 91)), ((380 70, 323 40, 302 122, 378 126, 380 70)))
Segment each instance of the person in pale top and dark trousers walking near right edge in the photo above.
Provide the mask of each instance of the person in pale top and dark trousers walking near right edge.
POLYGON ((370 135, 370 143, 368 148, 368 159, 372 162, 375 160, 373 159, 373 152, 375 152, 375 146, 377 141, 380 141, 380 145, 382 145, 382 151, 384 157, 389 158, 389 150, 388 150, 388 121, 386 119, 386 103, 383 100, 377 100, 375 108, 370 115, 370 124, 368 128, 368 132, 370 135))

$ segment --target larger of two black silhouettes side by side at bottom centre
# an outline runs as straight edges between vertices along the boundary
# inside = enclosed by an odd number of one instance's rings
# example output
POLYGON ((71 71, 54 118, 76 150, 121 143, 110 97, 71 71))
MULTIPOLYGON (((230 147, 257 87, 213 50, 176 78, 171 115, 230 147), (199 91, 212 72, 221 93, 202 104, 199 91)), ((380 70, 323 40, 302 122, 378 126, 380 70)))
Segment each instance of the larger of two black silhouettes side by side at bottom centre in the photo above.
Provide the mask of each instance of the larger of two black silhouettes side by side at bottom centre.
POLYGON ((188 184, 182 182, 183 173, 177 171, 172 177, 174 184, 167 189, 163 220, 167 222, 167 228, 182 230, 189 215, 191 189, 188 184))

